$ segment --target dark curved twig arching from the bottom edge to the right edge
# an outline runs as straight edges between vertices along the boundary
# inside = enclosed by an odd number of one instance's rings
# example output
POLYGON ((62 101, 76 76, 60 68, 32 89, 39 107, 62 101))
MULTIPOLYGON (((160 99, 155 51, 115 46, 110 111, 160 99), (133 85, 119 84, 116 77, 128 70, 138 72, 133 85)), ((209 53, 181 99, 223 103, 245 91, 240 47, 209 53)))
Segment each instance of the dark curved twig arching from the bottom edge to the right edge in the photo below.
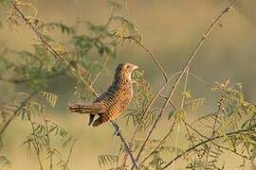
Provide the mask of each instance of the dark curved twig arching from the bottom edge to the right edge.
POLYGON ((188 148, 187 150, 185 150, 183 153, 177 155, 173 160, 167 162, 163 167, 162 169, 166 169, 167 167, 169 167, 171 164, 174 163, 174 161, 177 161, 178 159, 180 159, 183 155, 188 155, 193 149, 197 148, 198 146, 202 145, 202 144, 207 144, 209 142, 212 142, 212 141, 215 141, 217 139, 221 139, 223 137, 226 137, 226 136, 232 136, 232 135, 237 135, 237 134, 240 134, 240 133, 243 133, 243 132, 248 132, 248 131, 253 131, 255 130, 254 127, 250 127, 250 128, 247 128, 247 129, 240 129, 240 130, 237 130, 237 131, 233 131, 233 132, 229 132, 229 133, 226 133, 224 135, 218 135, 218 136, 215 136, 213 138, 210 138, 210 139, 207 139, 201 143, 198 143, 198 144, 195 144, 193 147, 191 148, 188 148))

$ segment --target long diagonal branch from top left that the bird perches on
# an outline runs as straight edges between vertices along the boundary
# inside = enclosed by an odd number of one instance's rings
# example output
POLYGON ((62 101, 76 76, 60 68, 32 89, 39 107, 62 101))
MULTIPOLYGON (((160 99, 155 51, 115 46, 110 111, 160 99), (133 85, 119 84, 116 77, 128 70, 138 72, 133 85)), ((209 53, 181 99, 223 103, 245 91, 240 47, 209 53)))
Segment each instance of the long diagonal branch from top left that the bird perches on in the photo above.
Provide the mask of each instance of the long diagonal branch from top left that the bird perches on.
MULTIPOLYGON (((26 22, 27 26, 29 26, 33 32, 36 34, 36 36, 41 40, 41 42, 43 42, 43 44, 46 46, 46 49, 48 49, 48 51, 52 54, 52 56, 55 59, 58 59, 61 63, 64 64, 64 66, 70 68, 71 73, 77 78, 77 79, 81 79, 82 82, 86 85, 86 87, 95 95, 98 96, 98 93, 96 93, 96 91, 94 90, 94 88, 86 81, 83 79, 82 76, 78 76, 76 74, 76 70, 75 68, 73 68, 68 61, 64 60, 64 58, 53 48, 53 46, 46 42, 46 39, 44 38, 44 36, 41 34, 41 32, 39 32, 36 27, 29 22, 29 20, 27 19, 27 17, 24 15, 23 11, 19 8, 19 5, 13 1, 10 0, 11 5, 13 6, 13 8, 15 8, 15 10, 20 14, 21 18, 26 22)), ((113 127, 116 129, 117 126, 115 126, 112 123, 113 127)), ((116 124, 117 125, 117 124, 116 124)), ((117 134, 117 136, 119 136, 121 143, 124 145, 124 147, 126 148, 126 152, 128 152, 129 156, 131 157, 131 160, 134 163, 134 166, 137 167, 137 161, 135 161, 134 156, 128 146, 128 144, 125 142, 121 132, 119 131, 119 133, 117 134)))

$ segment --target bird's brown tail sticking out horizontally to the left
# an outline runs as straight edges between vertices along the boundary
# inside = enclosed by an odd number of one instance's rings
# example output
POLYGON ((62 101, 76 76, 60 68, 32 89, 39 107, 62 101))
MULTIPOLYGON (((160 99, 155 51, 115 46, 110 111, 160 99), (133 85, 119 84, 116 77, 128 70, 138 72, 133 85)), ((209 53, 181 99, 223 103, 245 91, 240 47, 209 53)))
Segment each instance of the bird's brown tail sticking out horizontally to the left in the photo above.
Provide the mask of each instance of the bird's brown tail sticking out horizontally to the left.
POLYGON ((72 105, 69 106, 71 112, 78 113, 90 113, 90 114, 99 114, 103 112, 103 105, 100 102, 96 102, 90 105, 72 105))

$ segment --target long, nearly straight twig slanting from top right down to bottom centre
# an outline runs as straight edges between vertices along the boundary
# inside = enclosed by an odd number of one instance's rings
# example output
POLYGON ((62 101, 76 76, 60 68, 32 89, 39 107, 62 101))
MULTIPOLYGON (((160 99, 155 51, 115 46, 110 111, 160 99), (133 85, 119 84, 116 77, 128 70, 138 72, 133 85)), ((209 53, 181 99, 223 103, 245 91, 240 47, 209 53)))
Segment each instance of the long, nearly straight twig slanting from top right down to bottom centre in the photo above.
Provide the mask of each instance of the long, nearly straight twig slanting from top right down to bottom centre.
MULTIPOLYGON (((232 1, 232 2, 230 3, 229 7, 228 7, 228 8, 225 8, 225 9, 214 19, 213 23, 212 23, 212 24, 210 25, 210 27, 207 29, 206 33, 203 35, 203 37, 201 38, 201 40, 197 43, 197 45, 195 46, 195 48, 192 50, 192 54, 191 54, 190 58, 187 60, 186 64, 184 65, 180 76, 178 76, 178 78, 177 78, 176 81, 174 82, 174 85, 173 85, 172 90, 171 90, 171 92, 170 92, 170 94, 169 94, 169 96, 168 96, 168 99, 166 100, 164 106, 163 106, 162 109, 160 110, 160 113, 158 114, 158 116, 157 116, 157 118, 156 118, 156 120, 155 120, 155 123, 154 123, 153 127, 149 130, 149 133, 148 133, 148 135, 147 135, 147 137, 146 137, 146 140, 145 140, 144 144, 142 144, 142 146, 141 146, 141 148, 140 148, 140 150, 139 150, 139 152, 138 152, 138 154, 137 154, 137 161, 138 161, 138 159, 139 159, 139 157, 140 157, 140 155, 141 155, 141 152, 143 151, 145 145, 147 144, 147 142, 148 142, 150 136, 152 135, 152 133, 153 133, 155 127, 156 127, 156 124, 157 124, 158 121, 160 120, 160 118, 161 118, 163 112, 166 110, 167 105, 168 105, 168 103, 169 103, 169 100, 172 98, 172 96, 173 96, 173 94, 174 94, 174 91, 175 91, 175 89, 176 89, 176 87, 177 87, 177 85, 178 85, 178 83, 179 83, 181 77, 185 74, 186 69, 187 69, 187 68, 189 67, 189 65, 191 64, 192 59, 194 59, 194 57, 196 56, 198 50, 201 48, 202 44, 203 44, 203 43, 207 40, 207 38, 210 36, 210 32, 212 31, 212 29, 213 29, 215 26, 217 26, 217 24, 218 24, 218 22, 220 21, 220 19, 222 18, 222 16, 223 16, 224 14, 226 14, 226 13, 229 11, 229 9, 232 8, 237 2, 238 2, 238 0, 232 1)), ((133 169, 133 168, 132 168, 132 169, 133 169)))

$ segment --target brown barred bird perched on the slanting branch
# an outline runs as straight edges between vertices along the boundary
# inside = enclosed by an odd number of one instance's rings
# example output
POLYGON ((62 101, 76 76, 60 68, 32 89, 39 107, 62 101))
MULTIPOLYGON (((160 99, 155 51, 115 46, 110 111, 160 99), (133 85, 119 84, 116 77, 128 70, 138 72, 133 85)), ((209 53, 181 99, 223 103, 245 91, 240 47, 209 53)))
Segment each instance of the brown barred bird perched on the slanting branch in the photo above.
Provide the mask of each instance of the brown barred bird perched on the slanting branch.
POLYGON ((137 65, 120 63, 116 69, 111 86, 101 93, 90 105, 69 106, 71 112, 88 113, 89 126, 98 127, 101 124, 115 119, 125 110, 133 98, 132 73, 137 65), (99 118, 94 121, 96 115, 99 118))

